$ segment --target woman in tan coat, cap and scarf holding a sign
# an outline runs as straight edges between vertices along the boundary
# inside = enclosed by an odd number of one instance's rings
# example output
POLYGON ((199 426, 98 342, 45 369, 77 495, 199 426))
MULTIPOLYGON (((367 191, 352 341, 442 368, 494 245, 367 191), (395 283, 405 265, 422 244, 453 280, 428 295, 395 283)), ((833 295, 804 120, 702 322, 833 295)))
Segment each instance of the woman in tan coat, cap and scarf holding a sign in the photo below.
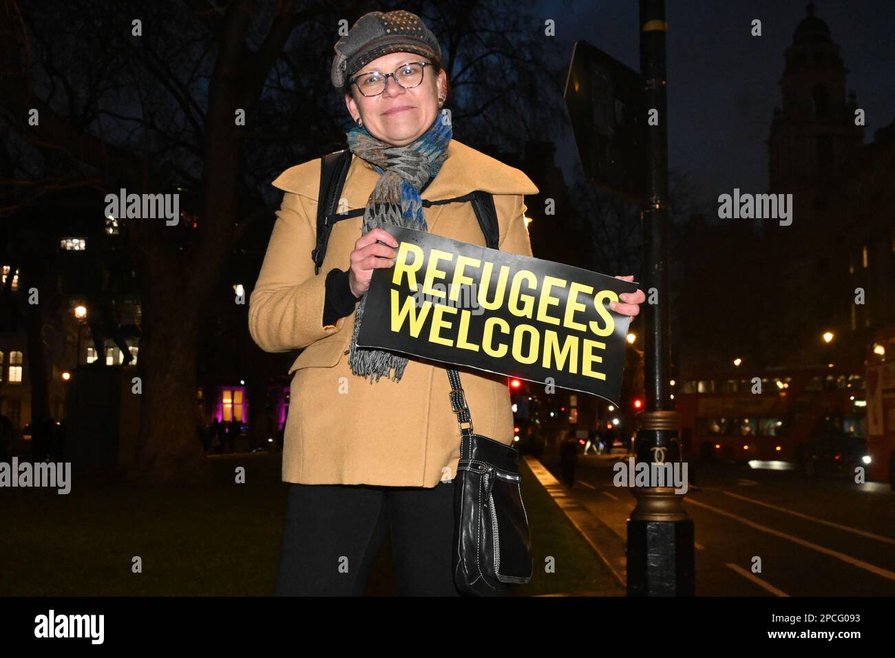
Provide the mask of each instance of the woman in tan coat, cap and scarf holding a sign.
MULTIPOLYGON (((356 124, 339 206, 364 215, 333 226, 315 275, 320 160, 287 169, 273 183, 285 193, 249 301, 251 336, 262 349, 303 348, 289 370, 289 497, 275 594, 363 594, 390 526, 396 593, 456 596, 460 441, 447 373, 439 363, 358 348, 356 329, 373 270, 395 262, 396 240, 379 226, 484 245, 470 203, 423 213, 421 198, 485 190, 494 195, 500 249, 530 256, 523 197, 538 188, 452 139, 439 113, 448 92, 439 43, 415 14, 365 14, 335 50, 331 80, 356 124)), ((635 315, 643 293, 625 297, 616 310, 635 315)), ((476 431, 509 443, 507 378, 458 370, 476 431)))

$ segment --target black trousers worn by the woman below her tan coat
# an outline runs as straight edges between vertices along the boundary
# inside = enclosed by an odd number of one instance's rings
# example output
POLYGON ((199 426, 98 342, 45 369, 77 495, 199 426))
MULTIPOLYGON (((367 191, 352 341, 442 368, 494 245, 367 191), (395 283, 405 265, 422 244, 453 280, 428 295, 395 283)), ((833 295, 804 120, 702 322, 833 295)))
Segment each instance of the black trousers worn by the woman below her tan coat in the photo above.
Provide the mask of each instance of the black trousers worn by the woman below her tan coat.
POLYGON ((275 596, 362 596, 390 529, 398 596, 460 596, 454 483, 431 489, 288 483, 275 596))

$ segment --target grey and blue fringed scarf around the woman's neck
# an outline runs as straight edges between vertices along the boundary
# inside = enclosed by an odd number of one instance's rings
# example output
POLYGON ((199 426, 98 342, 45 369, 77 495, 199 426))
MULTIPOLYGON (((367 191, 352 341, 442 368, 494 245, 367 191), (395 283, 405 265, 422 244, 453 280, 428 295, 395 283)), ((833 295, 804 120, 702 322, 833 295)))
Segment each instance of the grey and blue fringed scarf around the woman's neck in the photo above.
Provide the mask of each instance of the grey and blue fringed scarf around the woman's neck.
MULTIPOLYGON (((363 211, 362 235, 371 228, 386 224, 428 231, 429 226, 422 214, 420 190, 423 184, 439 173, 441 164, 447 158, 447 143, 453 137, 450 124, 442 121, 440 114, 437 115, 429 130, 407 146, 391 146, 373 137, 366 128, 358 126, 348 131, 347 137, 348 149, 369 162, 379 173, 379 180, 363 211)), ((364 378, 369 375, 371 384, 374 377, 375 381, 379 381, 380 377, 400 381, 407 365, 406 356, 357 346, 366 302, 367 295, 363 295, 354 316, 354 334, 348 357, 351 371, 364 378), (394 377, 390 374, 392 368, 395 369, 394 377)))

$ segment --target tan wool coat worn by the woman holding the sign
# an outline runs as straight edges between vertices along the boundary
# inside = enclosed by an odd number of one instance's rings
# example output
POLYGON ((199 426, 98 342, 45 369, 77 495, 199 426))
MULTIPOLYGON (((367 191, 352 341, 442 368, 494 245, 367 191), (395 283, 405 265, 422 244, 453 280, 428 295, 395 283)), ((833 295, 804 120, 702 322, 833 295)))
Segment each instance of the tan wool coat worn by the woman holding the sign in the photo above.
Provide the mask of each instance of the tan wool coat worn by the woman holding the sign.
MULTIPOLYGON (((369 163, 353 156, 342 191, 347 208, 363 208, 378 179, 369 163)), ((434 487, 453 479, 460 432, 447 397, 445 367, 408 356, 401 381, 381 378, 371 383, 348 366, 356 305, 335 326, 323 326, 326 275, 333 268, 350 268, 363 218, 343 219, 333 226, 320 274, 315 275, 311 250, 316 242, 320 158, 286 169, 273 184, 285 193, 249 298, 249 330, 266 352, 303 350, 289 369, 294 375, 283 481, 434 487)), ((452 140, 447 159, 422 199, 452 199, 474 190, 494 194, 500 249, 531 256, 523 195, 535 194, 538 188, 522 171, 452 140)), ((423 213, 430 233, 484 246, 470 202, 433 205, 423 213)), ((457 370, 474 431, 512 443, 507 377, 457 370)))

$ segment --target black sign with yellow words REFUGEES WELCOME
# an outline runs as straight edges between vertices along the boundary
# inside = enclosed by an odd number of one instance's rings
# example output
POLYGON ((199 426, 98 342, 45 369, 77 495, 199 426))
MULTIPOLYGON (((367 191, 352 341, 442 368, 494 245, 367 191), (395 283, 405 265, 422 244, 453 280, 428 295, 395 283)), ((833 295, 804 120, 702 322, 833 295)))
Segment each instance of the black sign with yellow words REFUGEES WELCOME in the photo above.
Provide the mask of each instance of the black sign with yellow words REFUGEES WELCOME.
POLYGON ((401 226, 395 265, 373 272, 358 346, 377 347, 618 404, 637 284, 401 226))

